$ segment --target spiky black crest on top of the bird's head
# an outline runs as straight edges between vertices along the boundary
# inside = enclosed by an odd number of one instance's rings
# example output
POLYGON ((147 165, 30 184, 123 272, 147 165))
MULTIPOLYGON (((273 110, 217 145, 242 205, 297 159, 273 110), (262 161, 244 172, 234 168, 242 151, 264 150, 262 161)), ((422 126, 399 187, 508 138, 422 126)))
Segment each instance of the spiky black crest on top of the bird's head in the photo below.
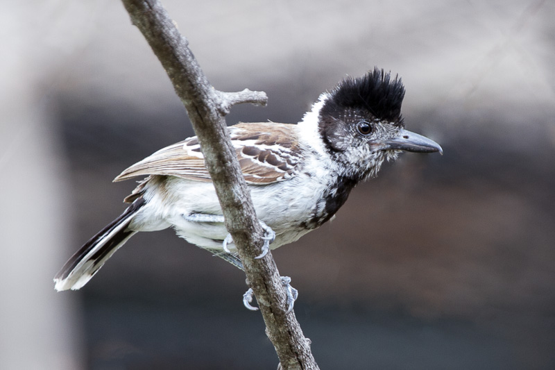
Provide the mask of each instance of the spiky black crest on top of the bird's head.
POLYGON ((377 119, 385 119, 393 124, 402 125, 401 105, 404 98, 404 86, 401 78, 374 68, 373 71, 359 78, 345 78, 330 93, 322 107, 322 115, 334 116, 334 113, 351 108, 355 111, 368 111, 377 119))

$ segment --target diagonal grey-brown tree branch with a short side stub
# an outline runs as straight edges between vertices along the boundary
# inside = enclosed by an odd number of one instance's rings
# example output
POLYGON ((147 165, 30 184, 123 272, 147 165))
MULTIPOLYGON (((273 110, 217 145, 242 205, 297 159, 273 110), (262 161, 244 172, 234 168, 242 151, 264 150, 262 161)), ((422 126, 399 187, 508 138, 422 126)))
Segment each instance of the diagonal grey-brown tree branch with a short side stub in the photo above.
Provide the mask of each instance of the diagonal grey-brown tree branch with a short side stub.
POLYGON ((173 83, 187 109, 203 148, 206 167, 218 194, 225 227, 239 251, 245 274, 266 323, 282 369, 318 369, 310 341, 302 334, 294 312, 285 314, 287 298, 275 262, 268 253, 255 260, 263 230, 257 221, 250 192, 225 124, 234 104, 266 103, 264 92, 219 92, 203 74, 185 37, 180 35, 157 0, 122 0, 131 22, 139 28, 173 83))

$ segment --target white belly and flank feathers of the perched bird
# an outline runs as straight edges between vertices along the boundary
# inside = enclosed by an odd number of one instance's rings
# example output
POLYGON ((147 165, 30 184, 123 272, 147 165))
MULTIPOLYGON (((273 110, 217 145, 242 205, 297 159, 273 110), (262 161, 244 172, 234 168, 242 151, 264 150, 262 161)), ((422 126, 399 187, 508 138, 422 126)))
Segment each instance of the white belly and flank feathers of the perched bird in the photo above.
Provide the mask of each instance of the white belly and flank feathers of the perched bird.
MULTIPOLYGON (((249 185, 257 217, 276 233, 271 249, 295 242, 310 231, 304 221, 318 212, 318 200, 325 184, 296 176, 271 185, 249 185), (287 183, 287 184, 286 184, 287 183), (301 187, 298 183, 303 183, 301 187)), ((314 178, 316 178, 314 176, 314 178)), ((193 213, 222 215, 212 183, 178 177, 153 179, 146 187, 147 205, 131 224, 134 230, 160 230, 172 226, 176 233, 202 248, 222 249, 228 231, 221 222, 191 222, 193 213)), ((230 244, 229 248, 234 249, 230 244)))

